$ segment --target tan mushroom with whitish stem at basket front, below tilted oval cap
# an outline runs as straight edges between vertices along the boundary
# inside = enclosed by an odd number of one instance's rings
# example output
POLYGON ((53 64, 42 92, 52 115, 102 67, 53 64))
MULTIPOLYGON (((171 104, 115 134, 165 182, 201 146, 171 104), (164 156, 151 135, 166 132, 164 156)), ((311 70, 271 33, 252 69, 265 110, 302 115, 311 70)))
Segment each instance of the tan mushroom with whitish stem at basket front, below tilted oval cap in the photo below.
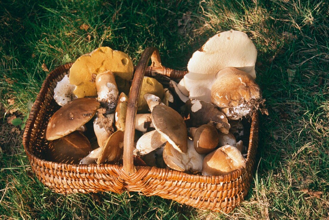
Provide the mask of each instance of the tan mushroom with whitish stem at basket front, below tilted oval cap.
POLYGON ((203 158, 203 155, 195 151, 194 144, 191 140, 188 140, 188 150, 186 154, 182 154, 168 142, 164 146, 164 162, 174 170, 200 172, 203 158))

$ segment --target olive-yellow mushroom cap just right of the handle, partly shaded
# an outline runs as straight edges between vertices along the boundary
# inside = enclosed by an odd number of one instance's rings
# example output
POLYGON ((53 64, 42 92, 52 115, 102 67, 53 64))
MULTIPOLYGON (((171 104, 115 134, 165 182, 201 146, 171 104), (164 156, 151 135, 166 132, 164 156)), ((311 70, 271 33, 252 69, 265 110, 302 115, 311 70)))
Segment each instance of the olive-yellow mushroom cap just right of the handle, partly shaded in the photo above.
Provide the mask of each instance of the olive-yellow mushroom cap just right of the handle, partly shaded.
POLYGON ((138 99, 137 112, 139 112, 139 113, 147 112, 147 109, 148 109, 147 102, 144 99, 144 95, 146 93, 153 94, 153 95, 159 97, 161 100, 164 96, 164 87, 155 78, 152 78, 152 77, 143 78, 142 86, 140 89, 140 95, 139 95, 139 99, 138 99))

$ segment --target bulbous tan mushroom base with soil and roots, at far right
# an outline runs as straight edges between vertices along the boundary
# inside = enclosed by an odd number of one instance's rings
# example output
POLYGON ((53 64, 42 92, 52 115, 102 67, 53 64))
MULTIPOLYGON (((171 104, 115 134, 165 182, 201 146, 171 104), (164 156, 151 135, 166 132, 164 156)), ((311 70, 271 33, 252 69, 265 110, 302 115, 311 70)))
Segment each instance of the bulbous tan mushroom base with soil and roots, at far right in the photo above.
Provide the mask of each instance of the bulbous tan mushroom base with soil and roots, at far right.
POLYGON ((218 106, 227 118, 238 120, 257 111, 264 99, 249 74, 227 67, 218 72, 218 78, 211 87, 211 103, 218 106))

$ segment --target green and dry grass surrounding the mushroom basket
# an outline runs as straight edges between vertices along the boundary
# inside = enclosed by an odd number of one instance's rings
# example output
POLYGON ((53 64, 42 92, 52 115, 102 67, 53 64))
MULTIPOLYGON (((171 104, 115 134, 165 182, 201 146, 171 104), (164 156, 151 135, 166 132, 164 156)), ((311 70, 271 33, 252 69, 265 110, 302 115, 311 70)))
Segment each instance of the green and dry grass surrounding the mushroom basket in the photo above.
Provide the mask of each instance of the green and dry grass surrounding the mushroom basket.
POLYGON ((0 219, 329 219, 328 9, 319 0, 0 2, 0 219), (29 112, 43 63, 52 70, 110 46, 137 64, 156 46, 165 66, 184 69, 206 39, 230 29, 257 47, 269 111, 254 181, 232 213, 138 193, 59 195, 33 176, 22 131, 6 120, 29 112))

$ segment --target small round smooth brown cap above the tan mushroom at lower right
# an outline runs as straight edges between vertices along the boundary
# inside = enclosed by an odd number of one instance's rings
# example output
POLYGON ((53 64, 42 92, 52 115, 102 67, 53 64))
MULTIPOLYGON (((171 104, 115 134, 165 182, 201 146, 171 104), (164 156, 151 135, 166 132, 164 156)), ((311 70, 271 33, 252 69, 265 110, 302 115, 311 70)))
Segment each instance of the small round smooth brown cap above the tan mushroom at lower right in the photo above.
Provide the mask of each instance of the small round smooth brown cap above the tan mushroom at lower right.
POLYGON ((218 139, 218 132, 214 126, 201 125, 194 134, 194 148, 199 154, 210 153, 216 148, 218 139))

